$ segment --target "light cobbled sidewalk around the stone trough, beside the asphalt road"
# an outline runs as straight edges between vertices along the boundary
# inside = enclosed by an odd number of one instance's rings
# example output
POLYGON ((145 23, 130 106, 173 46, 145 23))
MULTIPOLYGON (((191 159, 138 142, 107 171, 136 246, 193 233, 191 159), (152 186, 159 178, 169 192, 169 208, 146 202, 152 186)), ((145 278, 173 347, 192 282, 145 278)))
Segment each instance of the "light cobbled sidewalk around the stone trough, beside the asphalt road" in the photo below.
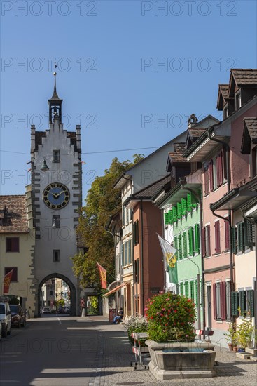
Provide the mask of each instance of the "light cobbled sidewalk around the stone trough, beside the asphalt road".
MULTIPOLYGON (((216 378, 197 378, 157 381, 148 370, 134 370, 132 347, 127 340, 123 324, 110 324, 105 317, 88 317, 99 331, 99 345, 95 358, 95 374, 90 386, 121 385, 199 385, 235 386, 257 385, 257 362, 235 357, 234 352, 216 347, 216 378)), ((145 360, 146 361, 146 360, 145 360)), ((148 363, 148 361, 146 361, 148 363)))

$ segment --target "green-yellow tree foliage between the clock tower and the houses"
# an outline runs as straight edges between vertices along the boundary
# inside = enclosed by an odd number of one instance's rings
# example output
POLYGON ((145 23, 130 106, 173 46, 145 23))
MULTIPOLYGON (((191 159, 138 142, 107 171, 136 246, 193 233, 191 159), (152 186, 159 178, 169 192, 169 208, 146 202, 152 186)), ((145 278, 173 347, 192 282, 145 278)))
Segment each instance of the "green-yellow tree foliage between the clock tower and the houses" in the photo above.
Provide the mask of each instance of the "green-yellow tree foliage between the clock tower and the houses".
POLYGON ((97 262, 109 272, 107 284, 114 280, 113 237, 106 232, 105 227, 110 216, 121 208, 120 190, 113 189, 114 183, 122 173, 144 158, 142 154, 134 154, 133 157, 133 162, 129 160, 120 162, 118 158, 114 158, 110 168, 104 171, 104 175, 92 182, 92 187, 85 199, 85 206, 81 208, 77 236, 80 244, 85 246, 87 251, 78 253, 72 260, 74 274, 80 277, 83 287, 96 284, 100 288, 97 262))

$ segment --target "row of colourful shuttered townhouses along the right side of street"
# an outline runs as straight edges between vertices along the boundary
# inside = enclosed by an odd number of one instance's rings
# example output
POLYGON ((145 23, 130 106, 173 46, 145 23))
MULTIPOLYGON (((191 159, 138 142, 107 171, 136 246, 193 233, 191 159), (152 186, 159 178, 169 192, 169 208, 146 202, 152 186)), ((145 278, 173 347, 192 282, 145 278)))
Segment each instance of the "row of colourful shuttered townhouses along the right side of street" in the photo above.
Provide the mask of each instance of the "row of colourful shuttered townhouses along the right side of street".
MULTIPOLYGON (((109 227, 116 244, 117 307, 144 314, 147 298, 173 291, 195 300, 197 323, 225 345, 238 307, 256 323, 257 70, 232 69, 218 110, 120 176, 122 210, 109 227), (178 255, 178 283, 165 272, 158 234, 178 255), (255 317, 255 318, 254 318, 255 317)), ((107 294, 108 295, 108 294, 107 294)))

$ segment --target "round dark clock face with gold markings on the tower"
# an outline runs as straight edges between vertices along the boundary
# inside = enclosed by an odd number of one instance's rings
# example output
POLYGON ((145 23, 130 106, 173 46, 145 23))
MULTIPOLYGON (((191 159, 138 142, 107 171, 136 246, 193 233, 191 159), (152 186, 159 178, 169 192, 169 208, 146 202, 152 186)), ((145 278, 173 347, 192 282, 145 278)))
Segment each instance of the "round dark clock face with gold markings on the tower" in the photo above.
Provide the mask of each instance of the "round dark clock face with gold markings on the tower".
POLYGON ((59 182, 53 182, 43 191, 43 202, 51 209, 62 209, 69 202, 69 190, 59 182))

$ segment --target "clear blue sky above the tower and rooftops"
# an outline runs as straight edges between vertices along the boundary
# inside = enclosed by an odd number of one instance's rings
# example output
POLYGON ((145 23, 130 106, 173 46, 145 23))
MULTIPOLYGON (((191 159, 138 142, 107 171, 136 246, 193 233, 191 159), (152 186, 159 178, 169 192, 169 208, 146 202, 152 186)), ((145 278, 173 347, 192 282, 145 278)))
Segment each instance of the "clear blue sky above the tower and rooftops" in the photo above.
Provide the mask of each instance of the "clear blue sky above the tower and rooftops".
POLYGON ((85 197, 113 157, 150 154, 192 113, 221 119, 218 84, 256 68, 256 1, 2 0, 1 194, 25 193, 55 61, 64 126, 83 124, 85 197))

